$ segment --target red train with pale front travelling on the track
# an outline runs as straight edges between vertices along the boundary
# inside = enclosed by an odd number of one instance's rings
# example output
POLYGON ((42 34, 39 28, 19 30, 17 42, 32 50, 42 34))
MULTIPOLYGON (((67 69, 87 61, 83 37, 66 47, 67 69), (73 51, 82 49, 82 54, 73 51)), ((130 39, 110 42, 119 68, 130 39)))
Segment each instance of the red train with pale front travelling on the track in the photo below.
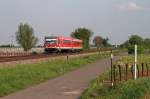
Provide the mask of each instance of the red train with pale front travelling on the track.
POLYGON ((45 37, 45 52, 81 51, 83 41, 70 37, 45 37))

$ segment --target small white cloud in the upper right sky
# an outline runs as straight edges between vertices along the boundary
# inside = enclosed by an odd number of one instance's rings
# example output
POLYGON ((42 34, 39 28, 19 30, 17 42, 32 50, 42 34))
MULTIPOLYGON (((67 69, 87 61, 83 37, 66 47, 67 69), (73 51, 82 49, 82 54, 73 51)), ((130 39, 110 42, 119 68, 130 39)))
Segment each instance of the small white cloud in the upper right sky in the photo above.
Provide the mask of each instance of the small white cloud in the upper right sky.
POLYGON ((127 4, 117 5, 117 9, 124 11, 140 11, 145 9, 143 6, 136 4, 135 2, 128 2, 127 4))

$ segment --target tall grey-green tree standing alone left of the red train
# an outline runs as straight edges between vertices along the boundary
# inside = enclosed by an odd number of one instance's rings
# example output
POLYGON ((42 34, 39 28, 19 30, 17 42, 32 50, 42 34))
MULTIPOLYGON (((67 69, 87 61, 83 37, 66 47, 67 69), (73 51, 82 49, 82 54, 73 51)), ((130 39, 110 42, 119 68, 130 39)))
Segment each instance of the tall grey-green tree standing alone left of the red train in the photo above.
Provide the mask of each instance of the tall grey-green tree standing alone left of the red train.
POLYGON ((23 23, 18 26, 16 40, 18 44, 24 48, 24 51, 32 49, 38 41, 38 39, 34 36, 33 28, 28 24, 23 23))

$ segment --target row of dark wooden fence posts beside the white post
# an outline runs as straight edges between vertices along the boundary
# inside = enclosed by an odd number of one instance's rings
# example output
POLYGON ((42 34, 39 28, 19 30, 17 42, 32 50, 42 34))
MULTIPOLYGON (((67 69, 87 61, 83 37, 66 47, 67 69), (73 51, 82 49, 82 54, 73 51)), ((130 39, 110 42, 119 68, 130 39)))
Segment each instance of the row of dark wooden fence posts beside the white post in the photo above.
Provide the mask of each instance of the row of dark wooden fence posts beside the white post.
MULTIPOLYGON (((144 77, 144 76, 149 76, 149 67, 148 67, 149 64, 150 63, 137 64, 137 77, 138 78, 139 77, 144 77)), ((116 85, 116 83, 117 83, 118 80, 119 81, 124 80, 124 78, 122 78, 124 76, 125 76, 125 81, 127 81, 128 79, 130 79, 129 75, 131 75, 131 78, 134 80, 134 70, 135 70, 134 65, 133 64, 131 65, 131 71, 130 71, 128 63, 124 64, 123 66, 125 66, 125 75, 122 72, 123 69, 124 69, 122 67, 122 65, 120 65, 120 64, 119 65, 113 65, 113 64, 111 64, 111 83, 114 83, 114 85, 116 85), (118 75, 117 75, 118 72, 119 72, 119 79, 117 80, 117 78, 118 78, 118 75)))

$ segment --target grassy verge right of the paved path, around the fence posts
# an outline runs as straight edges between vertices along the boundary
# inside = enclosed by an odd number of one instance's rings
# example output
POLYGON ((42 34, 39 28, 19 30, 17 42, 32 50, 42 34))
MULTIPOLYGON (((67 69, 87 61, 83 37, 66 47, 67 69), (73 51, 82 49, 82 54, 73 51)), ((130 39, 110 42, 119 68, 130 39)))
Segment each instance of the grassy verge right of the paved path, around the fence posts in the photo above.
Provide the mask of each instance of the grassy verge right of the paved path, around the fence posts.
MULTIPOLYGON (((150 62, 150 55, 140 55, 139 62, 150 62)), ((133 63, 134 57, 123 57, 120 61, 133 63)), ((150 99, 150 78, 138 78, 127 82, 119 82, 115 88, 103 83, 108 79, 109 72, 100 75, 91 82, 89 88, 83 93, 81 99, 150 99)))

